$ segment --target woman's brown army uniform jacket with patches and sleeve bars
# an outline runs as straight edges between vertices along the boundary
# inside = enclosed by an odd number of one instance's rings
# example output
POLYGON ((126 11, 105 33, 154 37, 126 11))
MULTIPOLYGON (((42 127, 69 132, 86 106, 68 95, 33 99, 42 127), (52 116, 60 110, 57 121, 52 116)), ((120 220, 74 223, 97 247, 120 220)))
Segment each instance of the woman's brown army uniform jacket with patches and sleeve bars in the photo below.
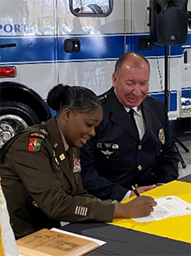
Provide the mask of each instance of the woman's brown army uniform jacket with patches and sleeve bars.
POLYGON ((55 117, 3 146, 2 189, 16 238, 60 221, 112 222, 114 204, 83 189, 78 149, 72 149, 67 156, 55 117))

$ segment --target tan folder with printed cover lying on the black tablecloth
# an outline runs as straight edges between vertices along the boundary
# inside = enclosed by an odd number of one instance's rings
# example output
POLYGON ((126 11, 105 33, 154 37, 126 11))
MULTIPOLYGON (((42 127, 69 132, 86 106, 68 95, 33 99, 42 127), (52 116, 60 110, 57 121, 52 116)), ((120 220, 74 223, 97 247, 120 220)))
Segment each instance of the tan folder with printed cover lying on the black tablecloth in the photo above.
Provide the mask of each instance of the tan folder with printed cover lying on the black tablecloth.
POLYGON ((95 241, 41 229, 17 241, 18 252, 24 256, 79 256, 99 248, 95 241))

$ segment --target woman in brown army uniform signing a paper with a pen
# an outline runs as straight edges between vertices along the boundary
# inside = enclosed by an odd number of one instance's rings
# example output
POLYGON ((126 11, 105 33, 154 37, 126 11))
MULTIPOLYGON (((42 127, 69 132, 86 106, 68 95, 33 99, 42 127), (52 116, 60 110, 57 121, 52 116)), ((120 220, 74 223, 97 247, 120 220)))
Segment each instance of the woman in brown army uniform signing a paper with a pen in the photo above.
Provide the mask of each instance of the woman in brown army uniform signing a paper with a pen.
POLYGON ((84 87, 58 84, 48 105, 57 111, 47 123, 28 127, 2 148, 2 189, 15 238, 60 222, 112 222, 149 215, 156 202, 138 196, 126 204, 101 201, 83 189, 79 148, 102 121, 98 97, 84 87))

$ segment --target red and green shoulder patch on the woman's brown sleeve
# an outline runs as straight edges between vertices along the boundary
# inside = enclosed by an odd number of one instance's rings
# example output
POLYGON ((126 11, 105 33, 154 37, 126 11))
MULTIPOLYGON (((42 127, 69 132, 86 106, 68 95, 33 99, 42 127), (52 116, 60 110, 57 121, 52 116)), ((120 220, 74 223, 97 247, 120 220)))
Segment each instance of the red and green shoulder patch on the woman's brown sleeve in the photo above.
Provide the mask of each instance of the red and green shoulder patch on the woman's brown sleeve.
POLYGON ((28 150, 40 151, 41 143, 44 141, 44 139, 44 134, 31 133, 29 137, 28 150))

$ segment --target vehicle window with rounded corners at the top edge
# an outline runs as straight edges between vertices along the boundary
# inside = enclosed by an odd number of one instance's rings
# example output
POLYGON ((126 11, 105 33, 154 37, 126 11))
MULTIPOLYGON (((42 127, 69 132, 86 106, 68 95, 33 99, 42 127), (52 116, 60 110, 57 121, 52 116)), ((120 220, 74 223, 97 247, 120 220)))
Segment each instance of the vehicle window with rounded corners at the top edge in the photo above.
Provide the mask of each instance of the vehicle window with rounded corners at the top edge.
POLYGON ((70 0, 70 11, 76 16, 105 17, 112 7, 113 0, 70 0))

